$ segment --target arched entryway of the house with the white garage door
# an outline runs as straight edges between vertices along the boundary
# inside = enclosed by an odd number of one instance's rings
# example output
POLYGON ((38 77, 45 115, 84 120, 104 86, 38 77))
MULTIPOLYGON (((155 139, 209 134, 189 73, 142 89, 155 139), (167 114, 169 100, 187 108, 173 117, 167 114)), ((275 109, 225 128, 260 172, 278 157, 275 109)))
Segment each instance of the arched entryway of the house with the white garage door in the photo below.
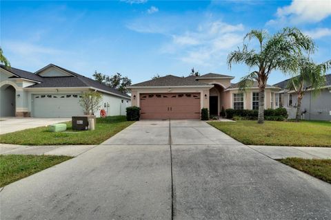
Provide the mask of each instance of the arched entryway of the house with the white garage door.
POLYGON ((0 90, 0 116, 14 117, 16 113, 16 89, 12 85, 3 85, 0 90))

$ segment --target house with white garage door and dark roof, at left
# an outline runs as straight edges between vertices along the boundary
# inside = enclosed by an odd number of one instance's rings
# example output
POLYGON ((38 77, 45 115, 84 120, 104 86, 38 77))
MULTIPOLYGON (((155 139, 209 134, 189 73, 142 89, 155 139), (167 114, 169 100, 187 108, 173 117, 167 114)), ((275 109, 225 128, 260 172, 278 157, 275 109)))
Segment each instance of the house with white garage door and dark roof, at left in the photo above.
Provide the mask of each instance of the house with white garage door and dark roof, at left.
MULTIPOLYGON (((117 89, 57 65, 35 73, 0 65, 0 116, 71 117, 83 115, 79 98, 84 91, 99 91, 101 109, 108 115, 125 115, 130 96, 117 89)), ((100 116, 100 111, 95 113, 100 116)))

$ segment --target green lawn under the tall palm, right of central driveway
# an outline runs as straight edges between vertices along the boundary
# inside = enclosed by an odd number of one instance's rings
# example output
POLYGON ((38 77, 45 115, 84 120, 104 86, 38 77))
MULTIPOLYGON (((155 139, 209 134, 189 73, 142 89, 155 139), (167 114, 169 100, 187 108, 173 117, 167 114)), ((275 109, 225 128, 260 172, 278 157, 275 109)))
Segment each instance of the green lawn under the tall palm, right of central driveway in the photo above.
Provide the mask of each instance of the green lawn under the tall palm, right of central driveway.
POLYGON ((331 147, 331 122, 209 122, 243 144, 331 147))

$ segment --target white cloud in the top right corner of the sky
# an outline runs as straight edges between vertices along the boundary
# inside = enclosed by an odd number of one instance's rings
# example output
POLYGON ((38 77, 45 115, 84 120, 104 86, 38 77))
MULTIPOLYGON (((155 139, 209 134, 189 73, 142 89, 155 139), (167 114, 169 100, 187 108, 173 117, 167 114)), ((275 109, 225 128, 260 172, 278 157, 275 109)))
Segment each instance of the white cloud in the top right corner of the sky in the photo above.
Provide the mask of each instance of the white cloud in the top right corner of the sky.
POLYGON ((277 19, 268 21, 268 25, 287 23, 317 23, 331 15, 329 0, 293 0, 288 6, 277 9, 277 19))

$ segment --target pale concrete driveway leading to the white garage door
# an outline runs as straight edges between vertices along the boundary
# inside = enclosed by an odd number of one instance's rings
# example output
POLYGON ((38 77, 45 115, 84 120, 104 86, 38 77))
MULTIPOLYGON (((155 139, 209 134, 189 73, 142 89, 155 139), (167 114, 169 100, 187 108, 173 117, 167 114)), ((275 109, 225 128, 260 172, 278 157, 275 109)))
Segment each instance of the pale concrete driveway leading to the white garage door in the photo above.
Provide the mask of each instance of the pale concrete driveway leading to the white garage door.
POLYGON ((0 118, 0 135, 37 126, 46 126, 59 122, 68 122, 71 118, 0 118))

